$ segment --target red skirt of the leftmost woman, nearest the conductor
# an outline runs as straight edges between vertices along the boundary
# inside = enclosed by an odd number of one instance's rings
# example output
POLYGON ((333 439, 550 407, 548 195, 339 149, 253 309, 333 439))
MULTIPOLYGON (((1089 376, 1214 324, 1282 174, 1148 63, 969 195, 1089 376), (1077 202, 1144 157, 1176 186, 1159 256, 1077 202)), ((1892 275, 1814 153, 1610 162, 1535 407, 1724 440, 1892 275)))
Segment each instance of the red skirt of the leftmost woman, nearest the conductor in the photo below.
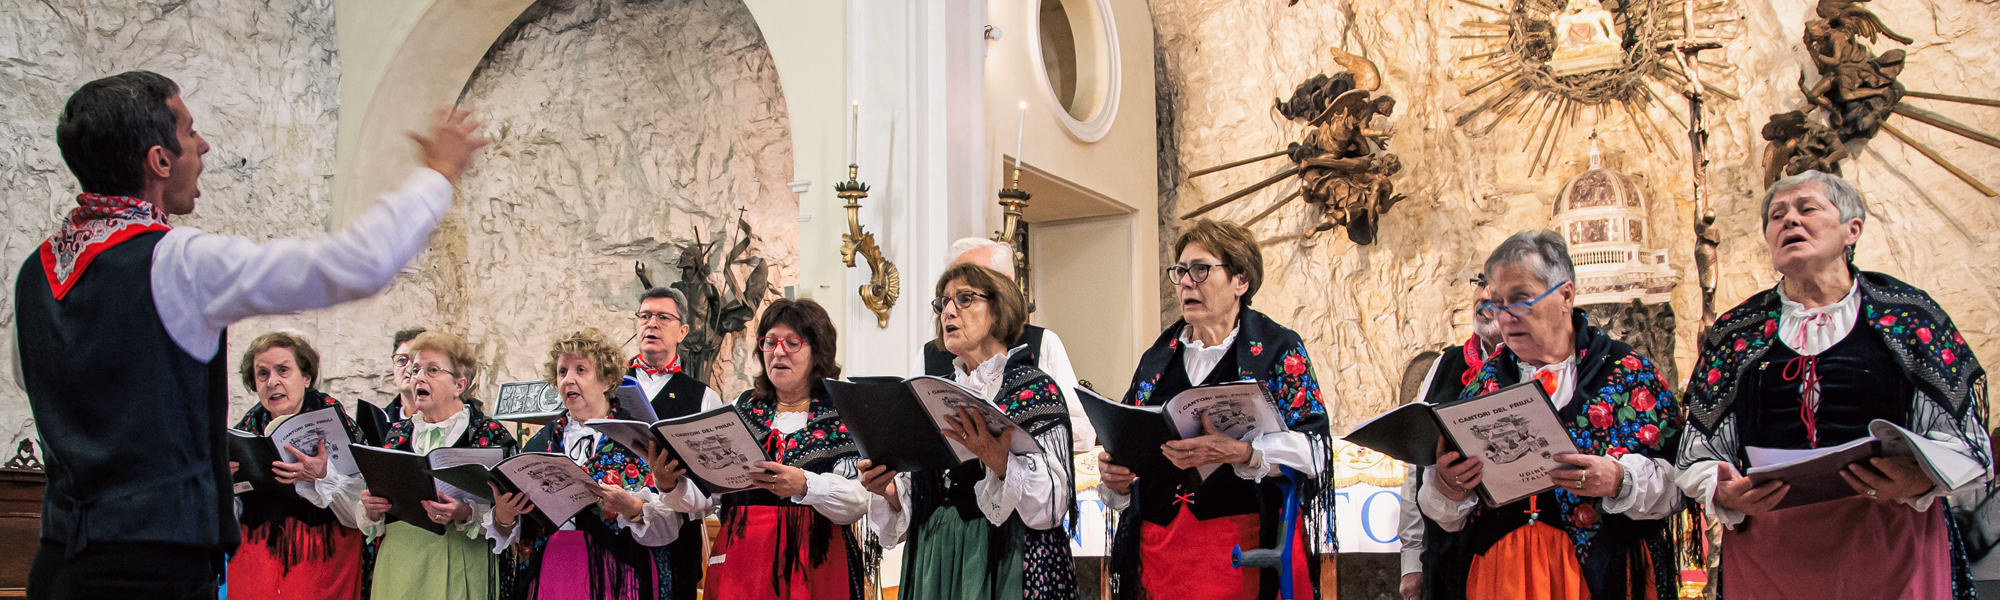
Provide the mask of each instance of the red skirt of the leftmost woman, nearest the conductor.
POLYGON ((322 560, 304 560, 290 570, 270 552, 268 544, 244 544, 230 556, 230 600, 260 598, 360 598, 362 532, 334 526, 334 552, 322 560))

